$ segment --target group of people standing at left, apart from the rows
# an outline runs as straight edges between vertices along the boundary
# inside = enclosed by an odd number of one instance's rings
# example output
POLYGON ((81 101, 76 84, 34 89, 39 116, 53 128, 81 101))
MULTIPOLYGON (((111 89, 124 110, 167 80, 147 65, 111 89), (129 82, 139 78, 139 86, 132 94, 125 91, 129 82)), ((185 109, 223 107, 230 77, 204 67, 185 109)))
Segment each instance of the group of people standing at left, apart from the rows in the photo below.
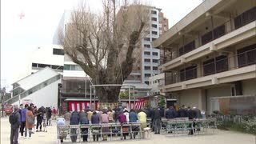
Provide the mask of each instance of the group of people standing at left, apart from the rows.
POLYGON ((55 107, 44 107, 37 108, 33 103, 21 104, 19 107, 14 106, 13 114, 10 114, 9 122, 11 127, 10 143, 18 144, 18 132, 21 137, 31 139, 31 135, 34 134, 33 128, 36 126, 36 132, 43 131, 47 132, 46 126, 50 126, 50 120, 52 115, 56 118, 57 110, 55 107), (35 118, 36 122, 35 123, 35 118), (38 129, 39 128, 39 129, 38 129))

